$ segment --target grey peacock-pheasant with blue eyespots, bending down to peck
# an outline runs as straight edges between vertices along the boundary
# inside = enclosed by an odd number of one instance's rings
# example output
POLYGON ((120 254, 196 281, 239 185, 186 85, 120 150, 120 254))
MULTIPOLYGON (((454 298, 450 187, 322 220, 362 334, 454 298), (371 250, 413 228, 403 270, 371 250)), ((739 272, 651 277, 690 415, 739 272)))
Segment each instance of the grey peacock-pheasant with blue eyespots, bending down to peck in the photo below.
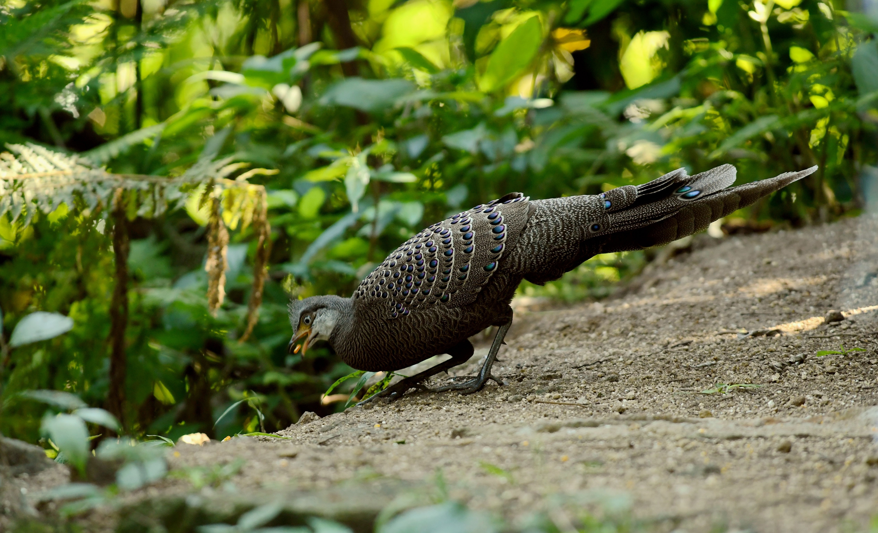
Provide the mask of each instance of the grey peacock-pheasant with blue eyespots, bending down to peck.
MULTIPOLYGON (((417 233, 394 250, 349 298, 312 296, 290 304, 303 352, 327 340, 350 366, 393 371, 434 355, 451 359, 400 380, 382 395, 399 397, 470 359, 468 340, 498 326, 479 375, 434 391, 478 391, 512 323, 509 303, 522 280, 542 285, 598 253, 640 250, 702 231, 817 167, 731 187, 731 165, 689 176, 684 168, 643 185, 601 195, 530 200, 510 193, 417 233)), ((499 380, 498 380, 499 382, 499 380)))

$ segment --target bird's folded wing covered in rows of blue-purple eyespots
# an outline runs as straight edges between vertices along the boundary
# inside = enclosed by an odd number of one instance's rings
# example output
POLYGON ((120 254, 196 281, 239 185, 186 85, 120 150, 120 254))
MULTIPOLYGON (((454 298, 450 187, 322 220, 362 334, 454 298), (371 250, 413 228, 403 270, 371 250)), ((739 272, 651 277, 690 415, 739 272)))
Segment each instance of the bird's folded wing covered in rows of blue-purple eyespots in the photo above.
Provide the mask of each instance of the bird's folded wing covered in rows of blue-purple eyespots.
POLYGON ((437 222, 391 252, 353 298, 388 318, 428 306, 473 302, 529 217, 529 198, 510 193, 437 222))

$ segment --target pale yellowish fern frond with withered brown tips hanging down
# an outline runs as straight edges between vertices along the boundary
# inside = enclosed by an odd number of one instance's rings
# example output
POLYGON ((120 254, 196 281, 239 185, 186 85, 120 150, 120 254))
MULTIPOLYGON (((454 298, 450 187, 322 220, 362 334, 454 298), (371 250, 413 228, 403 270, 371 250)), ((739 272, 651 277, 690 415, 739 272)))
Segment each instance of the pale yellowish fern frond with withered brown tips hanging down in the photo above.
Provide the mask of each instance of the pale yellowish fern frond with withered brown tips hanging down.
POLYGON ((246 164, 233 163, 232 158, 213 160, 211 155, 206 155, 183 175, 164 178, 111 174, 82 157, 33 144, 7 147, 9 153, 0 153, 0 217, 9 213, 13 223, 23 217, 25 226, 37 212, 50 213, 61 203, 66 203, 69 209, 85 207, 92 213, 100 210, 102 217, 108 217, 118 208, 122 191, 128 202, 137 205, 137 216, 156 217, 183 207, 189 195, 205 184, 202 202, 210 202, 212 208, 208 227, 210 249, 205 266, 210 280, 208 301, 212 312, 219 309, 225 295, 227 227, 234 230, 240 225, 243 231, 251 224, 254 226, 257 258, 244 338, 250 334, 262 302, 270 225, 265 188, 248 183, 240 176, 238 180, 228 179, 246 164))

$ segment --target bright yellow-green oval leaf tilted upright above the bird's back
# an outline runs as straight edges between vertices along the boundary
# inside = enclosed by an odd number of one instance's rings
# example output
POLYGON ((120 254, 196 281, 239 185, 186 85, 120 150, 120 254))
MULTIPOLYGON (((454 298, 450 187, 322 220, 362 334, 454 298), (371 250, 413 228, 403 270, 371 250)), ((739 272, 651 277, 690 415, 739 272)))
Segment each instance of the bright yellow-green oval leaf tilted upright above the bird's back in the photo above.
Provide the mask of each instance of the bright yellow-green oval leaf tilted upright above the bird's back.
POLYGON ((515 31, 494 48, 485 74, 479 78, 479 89, 493 92, 505 87, 529 67, 542 44, 543 25, 535 15, 515 28, 515 31))

